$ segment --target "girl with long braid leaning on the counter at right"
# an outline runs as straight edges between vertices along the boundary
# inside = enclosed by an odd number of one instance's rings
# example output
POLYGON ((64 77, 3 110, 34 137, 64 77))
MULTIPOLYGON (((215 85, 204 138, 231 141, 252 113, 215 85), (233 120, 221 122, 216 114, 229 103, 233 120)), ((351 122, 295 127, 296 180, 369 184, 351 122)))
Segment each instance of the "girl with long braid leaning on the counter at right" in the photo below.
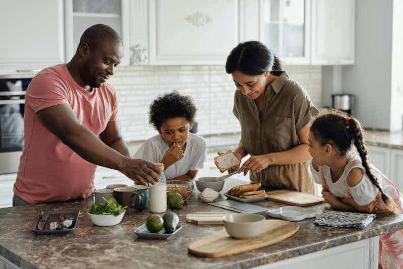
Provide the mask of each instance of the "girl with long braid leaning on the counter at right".
MULTIPOLYGON (((398 215, 403 195, 368 161, 364 129, 356 118, 331 111, 319 115, 309 132, 310 170, 332 208, 398 215), (359 156, 352 153, 354 144, 359 156)), ((380 266, 403 267, 403 230, 380 237, 380 266)))

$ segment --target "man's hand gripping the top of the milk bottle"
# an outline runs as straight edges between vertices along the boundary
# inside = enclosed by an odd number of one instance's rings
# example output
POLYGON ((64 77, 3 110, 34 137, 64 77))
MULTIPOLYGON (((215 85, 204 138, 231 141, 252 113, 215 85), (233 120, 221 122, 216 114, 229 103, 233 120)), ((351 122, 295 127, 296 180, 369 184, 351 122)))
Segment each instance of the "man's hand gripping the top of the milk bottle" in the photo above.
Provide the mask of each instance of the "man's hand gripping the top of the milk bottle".
POLYGON ((125 158, 119 171, 136 183, 140 182, 145 186, 148 182, 154 185, 159 176, 157 166, 142 159, 125 158))

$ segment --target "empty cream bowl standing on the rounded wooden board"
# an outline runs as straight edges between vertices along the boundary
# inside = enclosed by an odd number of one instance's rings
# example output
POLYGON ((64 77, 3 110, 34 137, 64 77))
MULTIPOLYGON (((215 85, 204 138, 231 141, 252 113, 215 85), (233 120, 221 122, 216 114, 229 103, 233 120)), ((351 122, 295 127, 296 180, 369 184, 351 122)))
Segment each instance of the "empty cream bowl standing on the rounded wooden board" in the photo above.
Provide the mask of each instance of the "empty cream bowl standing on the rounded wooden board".
POLYGON ((229 214, 224 216, 225 230, 238 239, 257 237, 263 230, 264 216, 258 214, 229 214))

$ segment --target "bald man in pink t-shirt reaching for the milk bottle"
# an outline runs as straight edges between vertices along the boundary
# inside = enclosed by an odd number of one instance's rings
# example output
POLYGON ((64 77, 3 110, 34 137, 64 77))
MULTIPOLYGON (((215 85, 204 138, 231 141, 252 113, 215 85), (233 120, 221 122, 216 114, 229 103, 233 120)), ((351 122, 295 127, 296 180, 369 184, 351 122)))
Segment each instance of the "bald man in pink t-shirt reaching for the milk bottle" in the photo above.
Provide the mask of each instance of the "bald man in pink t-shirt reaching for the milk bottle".
POLYGON ((119 35, 94 25, 73 59, 39 72, 25 96, 24 149, 13 206, 87 198, 97 165, 147 184, 155 164, 129 156, 114 88, 106 83, 122 57, 119 35))

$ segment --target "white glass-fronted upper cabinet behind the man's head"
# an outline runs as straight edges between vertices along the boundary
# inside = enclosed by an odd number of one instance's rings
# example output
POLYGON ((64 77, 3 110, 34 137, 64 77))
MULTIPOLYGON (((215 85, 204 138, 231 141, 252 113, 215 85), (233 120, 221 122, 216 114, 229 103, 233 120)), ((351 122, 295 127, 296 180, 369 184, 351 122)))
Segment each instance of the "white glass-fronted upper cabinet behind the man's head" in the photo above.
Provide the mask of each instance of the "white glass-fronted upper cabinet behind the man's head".
POLYGON ((123 59, 129 64, 129 1, 128 0, 65 0, 66 60, 77 50, 81 35, 94 24, 112 27, 122 38, 123 59))

